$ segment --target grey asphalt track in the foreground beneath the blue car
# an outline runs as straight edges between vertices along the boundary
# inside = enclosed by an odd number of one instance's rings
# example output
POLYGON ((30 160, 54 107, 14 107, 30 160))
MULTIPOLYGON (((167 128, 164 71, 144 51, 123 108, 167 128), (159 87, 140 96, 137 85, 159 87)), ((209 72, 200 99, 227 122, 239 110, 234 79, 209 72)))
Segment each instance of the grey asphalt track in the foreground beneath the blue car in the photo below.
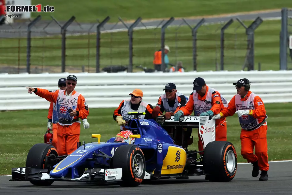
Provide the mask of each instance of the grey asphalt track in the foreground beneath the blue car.
POLYGON ((39 194, 291 194, 292 162, 270 162, 268 181, 252 177, 252 165, 238 164, 237 173, 230 182, 209 182, 205 176, 192 176, 187 180, 163 179, 136 188, 122 188, 119 185, 88 185, 83 182, 54 182, 48 187, 34 186, 30 182, 8 181, 11 176, 0 177, 0 194, 39 195, 39 194))

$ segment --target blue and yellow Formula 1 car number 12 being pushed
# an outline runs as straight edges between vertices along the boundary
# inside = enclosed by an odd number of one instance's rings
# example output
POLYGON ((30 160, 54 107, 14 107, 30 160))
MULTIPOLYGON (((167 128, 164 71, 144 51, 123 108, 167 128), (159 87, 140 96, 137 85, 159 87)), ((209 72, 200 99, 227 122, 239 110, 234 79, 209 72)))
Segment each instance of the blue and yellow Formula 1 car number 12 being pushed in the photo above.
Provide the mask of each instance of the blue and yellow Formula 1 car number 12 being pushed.
MULTIPOLYGON (((215 120, 209 116, 181 116, 174 121, 134 119, 127 128, 132 143, 115 142, 115 137, 81 145, 70 155, 58 156, 49 144, 35 144, 29 150, 26 166, 12 168, 11 181, 29 181, 34 185, 51 185, 55 181, 87 183, 117 182, 136 187, 145 179, 185 178, 206 175, 209 181, 231 181, 237 170, 237 153, 230 142, 215 141, 215 120), (165 129, 197 128, 203 151, 187 151, 177 145, 165 129), (197 154, 200 155, 197 156, 197 154), (203 153, 203 154, 202 154, 203 153)), ((181 136, 182 138, 184 136, 181 136)))

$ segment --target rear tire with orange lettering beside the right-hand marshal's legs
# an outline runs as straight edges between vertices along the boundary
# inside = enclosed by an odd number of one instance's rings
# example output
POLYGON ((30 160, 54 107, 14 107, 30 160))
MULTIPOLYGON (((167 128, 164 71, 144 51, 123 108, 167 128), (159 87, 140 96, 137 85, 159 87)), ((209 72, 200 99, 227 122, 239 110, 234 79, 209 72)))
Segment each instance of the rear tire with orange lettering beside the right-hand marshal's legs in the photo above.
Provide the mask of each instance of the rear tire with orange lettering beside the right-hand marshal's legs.
POLYGON ((229 182, 237 171, 237 153, 231 142, 215 141, 206 145, 203 156, 206 179, 229 182))

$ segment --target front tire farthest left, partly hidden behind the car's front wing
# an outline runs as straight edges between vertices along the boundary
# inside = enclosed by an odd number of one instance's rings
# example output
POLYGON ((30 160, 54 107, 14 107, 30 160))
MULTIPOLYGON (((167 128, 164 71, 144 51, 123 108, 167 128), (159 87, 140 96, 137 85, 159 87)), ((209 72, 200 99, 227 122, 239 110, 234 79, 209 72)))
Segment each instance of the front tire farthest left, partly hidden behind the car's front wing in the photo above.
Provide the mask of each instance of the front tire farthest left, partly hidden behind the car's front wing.
MULTIPOLYGON (((50 144, 35 144, 33 145, 28 154, 27 154, 27 159, 26 159, 26 167, 31 167, 31 168, 38 168, 38 169, 45 169, 49 167, 45 165, 45 159, 46 156, 58 156, 58 152, 55 149, 54 146, 50 144)), ((49 171, 51 171, 49 169, 49 171)), ((49 174, 49 173, 48 173, 49 174)), ((47 185, 52 185, 54 181, 29 181, 33 185, 38 185, 38 186, 47 186, 47 185)))

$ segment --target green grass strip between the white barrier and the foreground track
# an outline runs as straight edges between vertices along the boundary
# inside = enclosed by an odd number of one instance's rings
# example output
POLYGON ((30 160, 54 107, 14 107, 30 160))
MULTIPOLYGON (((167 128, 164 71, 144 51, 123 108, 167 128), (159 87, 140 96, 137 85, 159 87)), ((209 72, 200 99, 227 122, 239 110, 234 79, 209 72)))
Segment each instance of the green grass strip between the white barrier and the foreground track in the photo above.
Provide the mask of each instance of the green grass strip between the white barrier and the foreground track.
MULTIPOLYGON (((292 159, 292 125, 289 115, 292 103, 266 104, 268 115, 269 161, 292 159)), ((80 141, 96 142, 92 133, 101 134, 101 141, 114 137, 119 126, 113 119, 115 108, 90 109, 89 129, 81 125, 80 141)), ((0 174, 10 174, 12 167, 25 166, 32 145, 44 142, 48 110, 6 111, 0 114, 0 174)), ((192 132, 194 143, 190 149, 198 150, 198 133, 192 132)), ((246 162, 240 155, 240 126, 236 115, 227 117, 227 140, 238 153, 238 162, 246 162)))

